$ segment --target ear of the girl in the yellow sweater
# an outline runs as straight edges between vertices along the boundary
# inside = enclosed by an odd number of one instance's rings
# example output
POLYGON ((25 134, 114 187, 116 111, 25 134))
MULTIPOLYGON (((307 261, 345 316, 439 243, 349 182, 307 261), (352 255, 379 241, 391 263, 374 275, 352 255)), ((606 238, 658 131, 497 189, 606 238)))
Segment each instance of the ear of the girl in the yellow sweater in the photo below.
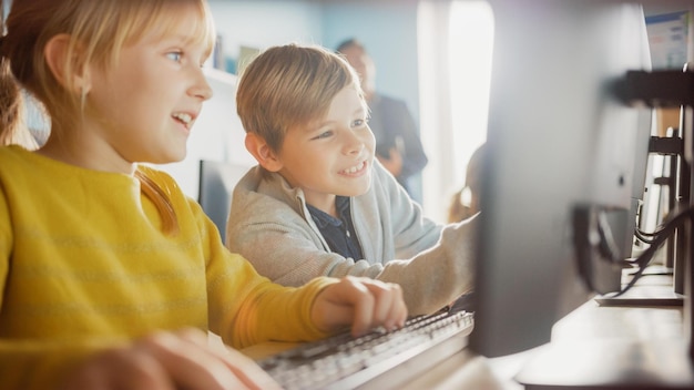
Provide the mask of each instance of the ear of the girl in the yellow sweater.
POLYGON ((76 94, 86 94, 91 89, 89 72, 81 59, 79 45, 69 53, 70 40, 69 34, 51 38, 43 49, 45 62, 61 85, 76 94))

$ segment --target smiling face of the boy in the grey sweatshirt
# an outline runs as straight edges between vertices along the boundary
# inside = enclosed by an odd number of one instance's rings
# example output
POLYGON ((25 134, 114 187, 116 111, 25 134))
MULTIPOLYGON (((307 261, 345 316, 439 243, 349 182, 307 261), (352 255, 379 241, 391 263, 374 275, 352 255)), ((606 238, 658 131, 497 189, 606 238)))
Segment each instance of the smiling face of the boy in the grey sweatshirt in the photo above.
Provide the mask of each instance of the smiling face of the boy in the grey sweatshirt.
POLYGON ((304 191, 306 202, 331 213, 336 195, 369 189, 375 144, 359 93, 347 86, 333 98, 326 117, 287 132, 279 173, 304 191))

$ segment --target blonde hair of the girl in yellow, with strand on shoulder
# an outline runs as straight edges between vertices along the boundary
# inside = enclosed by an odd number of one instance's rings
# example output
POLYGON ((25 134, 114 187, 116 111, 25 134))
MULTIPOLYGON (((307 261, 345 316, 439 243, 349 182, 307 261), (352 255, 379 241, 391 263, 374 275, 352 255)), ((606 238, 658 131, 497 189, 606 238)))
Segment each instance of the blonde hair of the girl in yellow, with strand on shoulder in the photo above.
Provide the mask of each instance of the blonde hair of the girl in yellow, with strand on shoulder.
MULTIPOLYGON (((162 34, 180 25, 182 8, 191 12, 196 6, 198 23, 191 27, 191 40, 212 52, 214 24, 205 0, 31 0, 13 1, 7 19, 7 33, 0 38, 0 88, 8 93, 18 85, 29 91, 51 119, 51 135, 76 129, 84 113, 84 95, 74 91, 74 78, 89 64, 109 70, 118 61, 121 48, 136 43, 145 34, 162 34), (70 37, 63 83, 49 68, 44 48, 58 34, 70 37)), ((0 110, 19 102, 0 100, 0 110)), ((19 103, 21 104, 21 103, 19 103)), ((0 134, 11 132, 17 124, 7 119, 0 134)), ((157 206, 166 232, 177 230, 176 216, 165 193, 139 171, 142 191, 157 206)))

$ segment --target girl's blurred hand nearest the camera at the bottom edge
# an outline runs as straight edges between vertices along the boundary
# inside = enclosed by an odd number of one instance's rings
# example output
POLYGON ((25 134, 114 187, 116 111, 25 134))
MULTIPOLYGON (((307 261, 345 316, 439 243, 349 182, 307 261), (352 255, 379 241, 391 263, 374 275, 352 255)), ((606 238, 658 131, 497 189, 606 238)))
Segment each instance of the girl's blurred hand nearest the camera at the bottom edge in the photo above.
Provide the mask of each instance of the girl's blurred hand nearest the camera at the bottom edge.
POLYGON ((159 332, 93 356, 67 377, 71 389, 279 389, 251 358, 208 345, 197 329, 159 332))

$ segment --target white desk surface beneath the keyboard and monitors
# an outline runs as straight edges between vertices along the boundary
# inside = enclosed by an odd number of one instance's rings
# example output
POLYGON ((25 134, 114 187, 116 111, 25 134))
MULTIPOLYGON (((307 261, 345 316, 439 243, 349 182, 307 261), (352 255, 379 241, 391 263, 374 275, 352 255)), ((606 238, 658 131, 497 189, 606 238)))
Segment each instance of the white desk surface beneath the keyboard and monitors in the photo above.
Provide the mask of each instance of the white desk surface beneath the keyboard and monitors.
MULTIPOLYGON (((642 285, 632 294, 669 296, 671 288, 642 285)), ((558 321, 551 342, 542 347, 494 359, 463 349, 423 372, 405 363, 363 389, 523 389, 519 382, 529 390, 629 389, 645 383, 693 389, 682 311, 678 306, 601 307, 591 299, 558 321)), ((294 346, 267 342, 243 352, 261 359, 294 346)))

